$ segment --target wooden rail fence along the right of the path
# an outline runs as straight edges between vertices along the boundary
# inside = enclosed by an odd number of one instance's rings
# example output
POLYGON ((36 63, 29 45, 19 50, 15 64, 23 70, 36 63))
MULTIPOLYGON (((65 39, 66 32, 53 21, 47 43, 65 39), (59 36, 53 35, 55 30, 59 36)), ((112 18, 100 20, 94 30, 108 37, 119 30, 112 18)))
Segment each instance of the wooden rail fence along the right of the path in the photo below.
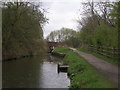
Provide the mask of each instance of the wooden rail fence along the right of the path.
POLYGON ((113 47, 103 47, 103 46, 93 46, 90 45, 88 48, 92 52, 99 53, 101 55, 107 56, 109 58, 113 58, 115 60, 120 59, 120 48, 113 47))

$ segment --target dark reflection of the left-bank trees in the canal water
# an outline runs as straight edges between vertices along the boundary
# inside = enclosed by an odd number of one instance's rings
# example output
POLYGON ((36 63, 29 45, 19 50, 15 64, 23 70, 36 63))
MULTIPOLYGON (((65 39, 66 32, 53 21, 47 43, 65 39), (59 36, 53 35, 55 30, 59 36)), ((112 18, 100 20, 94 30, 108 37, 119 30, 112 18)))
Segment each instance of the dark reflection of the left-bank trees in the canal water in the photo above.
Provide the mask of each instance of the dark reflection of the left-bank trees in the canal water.
POLYGON ((3 88, 40 88, 42 56, 3 63, 3 88))

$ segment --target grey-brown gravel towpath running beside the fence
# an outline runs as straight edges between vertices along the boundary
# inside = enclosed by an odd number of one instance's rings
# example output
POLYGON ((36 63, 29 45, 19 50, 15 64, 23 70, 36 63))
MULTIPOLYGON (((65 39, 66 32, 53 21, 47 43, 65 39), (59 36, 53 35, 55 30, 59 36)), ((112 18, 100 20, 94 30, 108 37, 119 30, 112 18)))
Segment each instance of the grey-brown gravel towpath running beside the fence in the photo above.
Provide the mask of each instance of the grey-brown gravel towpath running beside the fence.
POLYGON ((102 72, 103 75, 108 77, 110 80, 113 80, 114 82, 118 83, 120 80, 118 78, 118 67, 112 65, 111 63, 108 63, 102 59, 99 59, 91 54, 87 54, 84 52, 81 52, 75 48, 71 48, 75 53, 78 53, 80 56, 85 58, 88 63, 92 64, 97 70, 102 72), (119 79, 119 80, 118 80, 119 79))

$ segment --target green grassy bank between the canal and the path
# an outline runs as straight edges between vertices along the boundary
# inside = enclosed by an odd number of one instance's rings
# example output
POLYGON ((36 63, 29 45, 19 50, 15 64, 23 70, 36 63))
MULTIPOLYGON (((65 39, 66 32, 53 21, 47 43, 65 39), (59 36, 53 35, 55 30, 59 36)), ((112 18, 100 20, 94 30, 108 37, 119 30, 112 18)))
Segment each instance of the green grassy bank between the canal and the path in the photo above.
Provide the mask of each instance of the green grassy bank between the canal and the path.
POLYGON ((68 73, 71 79, 70 88, 117 88, 117 85, 102 76, 87 61, 69 48, 56 47, 56 52, 65 53, 64 64, 70 66, 68 73))

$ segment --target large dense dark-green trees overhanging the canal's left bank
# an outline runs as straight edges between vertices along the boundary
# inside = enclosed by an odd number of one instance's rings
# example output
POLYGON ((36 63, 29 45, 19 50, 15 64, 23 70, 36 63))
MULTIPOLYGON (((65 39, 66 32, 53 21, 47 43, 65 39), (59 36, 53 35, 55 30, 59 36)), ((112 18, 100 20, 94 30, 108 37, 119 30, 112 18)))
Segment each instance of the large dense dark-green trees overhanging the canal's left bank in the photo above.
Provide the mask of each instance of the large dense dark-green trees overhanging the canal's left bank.
POLYGON ((44 46, 42 25, 46 21, 35 3, 3 3, 3 59, 40 53, 44 46))

